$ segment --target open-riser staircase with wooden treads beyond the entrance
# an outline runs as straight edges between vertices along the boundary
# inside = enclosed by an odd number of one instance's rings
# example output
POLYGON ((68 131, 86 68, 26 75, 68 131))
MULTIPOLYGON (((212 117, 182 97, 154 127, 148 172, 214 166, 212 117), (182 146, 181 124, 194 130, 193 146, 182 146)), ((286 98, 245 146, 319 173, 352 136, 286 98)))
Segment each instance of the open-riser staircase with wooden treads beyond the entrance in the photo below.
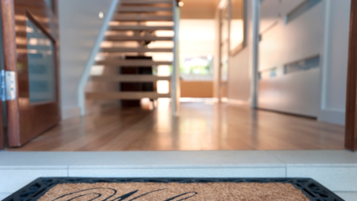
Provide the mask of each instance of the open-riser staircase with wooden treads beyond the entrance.
MULTIPOLYGON (((101 65, 104 68, 119 67, 119 69, 146 67, 152 68, 151 72, 155 72, 155 69, 159 65, 174 65, 175 45, 169 48, 150 48, 150 44, 155 43, 155 41, 174 41, 174 14, 175 7, 177 6, 175 2, 173 0, 121 0, 109 24, 106 37, 102 41, 101 51, 96 57, 99 59, 96 59, 95 65, 101 65), (172 35, 160 36, 160 34, 157 34, 157 31, 171 31, 172 35), (173 56, 170 59, 152 59, 152 54, 156 53, 174 54, 172 54, 173 56), (131 58, 127 59, 127 57, 131 58), (135 59, 136 57, 138 59, 135 59)), ((93 82, 117 82, 118 85, 120 83, 152 83, 155 86, 158 80, 171 81, 172 75, 157 76, 154 73, 120 74, 120 70, 118 70, 117 74, 92 75, 91 80, 93 82)), ((94 91, 87 92, 86 97, 88 99, 118 100, 172 97, 172 92, 171 94, 161 94, 156 92, 155 87, 153 89, 152 91, 122 91, 121 89, 118 91, 94 91)), ((172 102, 176 101, 173 100, 172 102)))

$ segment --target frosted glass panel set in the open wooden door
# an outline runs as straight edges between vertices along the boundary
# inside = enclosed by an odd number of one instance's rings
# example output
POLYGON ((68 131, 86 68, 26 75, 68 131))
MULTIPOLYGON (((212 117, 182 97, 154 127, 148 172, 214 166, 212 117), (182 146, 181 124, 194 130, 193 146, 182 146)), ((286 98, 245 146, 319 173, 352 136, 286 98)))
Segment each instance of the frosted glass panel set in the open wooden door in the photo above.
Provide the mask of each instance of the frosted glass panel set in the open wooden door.
POLYGON ((30 102, 56 100, 53 41, 30 19, 26 19, 30 102))

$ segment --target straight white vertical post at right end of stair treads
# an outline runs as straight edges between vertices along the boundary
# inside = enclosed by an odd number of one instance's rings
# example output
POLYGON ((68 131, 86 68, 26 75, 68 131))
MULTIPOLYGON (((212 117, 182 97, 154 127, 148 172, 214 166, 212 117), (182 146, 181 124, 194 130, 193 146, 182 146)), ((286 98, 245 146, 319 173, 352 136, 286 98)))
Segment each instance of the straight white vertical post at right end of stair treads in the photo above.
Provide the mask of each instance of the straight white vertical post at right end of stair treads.
POLYGON ((171 74, 171 109, 172 115, 178 116, 180 109, 180 64, 179 64, 179 25, 180 25, 180 0, 172 0, 172 12, 174 21, 174 59, 172 61, 172 74, 171 74))

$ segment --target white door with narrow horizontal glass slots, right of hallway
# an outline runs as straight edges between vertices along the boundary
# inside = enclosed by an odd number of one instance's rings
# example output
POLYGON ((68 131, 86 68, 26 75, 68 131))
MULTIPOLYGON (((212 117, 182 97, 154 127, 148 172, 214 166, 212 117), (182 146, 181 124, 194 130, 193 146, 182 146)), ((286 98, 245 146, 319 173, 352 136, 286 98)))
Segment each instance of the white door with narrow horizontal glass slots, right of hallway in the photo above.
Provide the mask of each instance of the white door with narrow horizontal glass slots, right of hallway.
POLYGON ((320 68, 284 74, 283 67, 323 54, 325 2, 286 23, 286 14, 298 3, 295 0, 265 0, 261 4, 259 71, 277 68, 278 75, 259 80, 258 107, 317 117, 320 111, 320 68))

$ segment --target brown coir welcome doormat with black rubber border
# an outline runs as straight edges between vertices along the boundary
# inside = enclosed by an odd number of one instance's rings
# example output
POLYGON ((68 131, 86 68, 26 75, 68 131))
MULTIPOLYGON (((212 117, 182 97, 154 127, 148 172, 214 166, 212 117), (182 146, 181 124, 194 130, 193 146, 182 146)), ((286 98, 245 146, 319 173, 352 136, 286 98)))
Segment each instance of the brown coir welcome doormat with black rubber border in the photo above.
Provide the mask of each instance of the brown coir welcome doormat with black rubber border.
POLYGON ((310 178, 38 178, 5 201, 340 201, 310 178))

